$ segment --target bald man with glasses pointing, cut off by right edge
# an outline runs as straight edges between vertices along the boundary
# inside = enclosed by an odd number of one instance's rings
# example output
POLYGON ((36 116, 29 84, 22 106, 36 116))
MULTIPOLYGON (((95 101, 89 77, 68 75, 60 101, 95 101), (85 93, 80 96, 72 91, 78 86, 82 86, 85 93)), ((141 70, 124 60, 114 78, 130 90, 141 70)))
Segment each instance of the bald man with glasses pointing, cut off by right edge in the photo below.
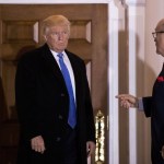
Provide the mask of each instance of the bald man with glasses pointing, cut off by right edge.
MULTIPOLYGON (((152 33, 156 45, 156 54, 164 57, 164 19, 157 23, 152 33)), ((137 107, 151 117, 152 129, 152 164, 164 164, 164 66, 159 74, 152 96, 138 98, 129 94, 116 96, 125 108, 137 107)))

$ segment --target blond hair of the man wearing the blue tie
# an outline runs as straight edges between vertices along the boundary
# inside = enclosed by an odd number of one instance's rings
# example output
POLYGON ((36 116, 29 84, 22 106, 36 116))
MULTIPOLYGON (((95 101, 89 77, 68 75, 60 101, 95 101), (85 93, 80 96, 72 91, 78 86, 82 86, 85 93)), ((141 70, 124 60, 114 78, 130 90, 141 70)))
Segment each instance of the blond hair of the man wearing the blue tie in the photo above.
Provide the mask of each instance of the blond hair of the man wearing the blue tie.
POLYGON ((68 32, 70 33, 70 21, 63 15, 51 15, 43 21, 42 32, 46 35, 47 31, 57 25, 66 25, 68 26, 68 32))

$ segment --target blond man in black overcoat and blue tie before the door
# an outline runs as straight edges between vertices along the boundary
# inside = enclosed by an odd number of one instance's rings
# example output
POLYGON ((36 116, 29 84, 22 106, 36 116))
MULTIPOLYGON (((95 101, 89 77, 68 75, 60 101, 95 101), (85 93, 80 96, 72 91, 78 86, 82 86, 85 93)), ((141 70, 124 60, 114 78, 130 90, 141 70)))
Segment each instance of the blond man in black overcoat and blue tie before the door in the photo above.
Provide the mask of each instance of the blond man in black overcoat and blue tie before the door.
POLYGON ((85 63, 66 49, 67 17, 44 20, 43 34, 46 44, 24 54, 16 70, 17 164, 86 164, 95 150, 95 128, 85 63), (74 116, 70 117, 71 104, 74 116))

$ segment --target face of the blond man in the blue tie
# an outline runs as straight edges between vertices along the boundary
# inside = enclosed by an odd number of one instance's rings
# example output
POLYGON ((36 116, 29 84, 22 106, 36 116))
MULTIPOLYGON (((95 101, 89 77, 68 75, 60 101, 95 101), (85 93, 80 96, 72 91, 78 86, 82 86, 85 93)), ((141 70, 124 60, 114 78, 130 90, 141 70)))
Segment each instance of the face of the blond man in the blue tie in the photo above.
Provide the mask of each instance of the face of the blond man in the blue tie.
POLYGON ((57 52, 67 48, 69 39, 69 30, 67 25, 49 27, 45 35, 46 42, 51 50, 57 52))

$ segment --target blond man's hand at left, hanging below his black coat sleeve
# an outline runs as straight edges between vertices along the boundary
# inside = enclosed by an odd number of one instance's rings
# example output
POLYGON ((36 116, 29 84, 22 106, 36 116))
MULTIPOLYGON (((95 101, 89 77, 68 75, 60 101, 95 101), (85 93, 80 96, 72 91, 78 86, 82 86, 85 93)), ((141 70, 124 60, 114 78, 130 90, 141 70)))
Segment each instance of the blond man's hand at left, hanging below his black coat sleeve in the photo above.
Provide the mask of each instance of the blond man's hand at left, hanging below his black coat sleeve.
POLYGON ((42 136, 37 136, 31 140, 31 145, 32 150, 38 152, 38 153, 44 153, 46 148, 45 148, 45 142, 42 136))

